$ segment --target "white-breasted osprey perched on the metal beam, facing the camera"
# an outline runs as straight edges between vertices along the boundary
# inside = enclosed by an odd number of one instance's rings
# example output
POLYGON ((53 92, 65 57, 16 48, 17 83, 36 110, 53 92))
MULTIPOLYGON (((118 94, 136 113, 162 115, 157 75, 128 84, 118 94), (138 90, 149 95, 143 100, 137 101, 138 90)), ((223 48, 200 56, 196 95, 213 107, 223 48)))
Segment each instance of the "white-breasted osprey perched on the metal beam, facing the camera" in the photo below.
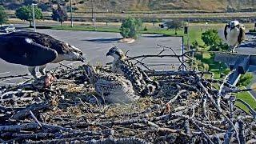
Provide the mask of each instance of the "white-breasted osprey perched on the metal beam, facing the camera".
POLYGON ((245 26, 238 21, 229 22, 225 26, 224 36, 230 46, 230 52, 234 53, 234 49, 240 46, 241 42, 246 38, 245 26))

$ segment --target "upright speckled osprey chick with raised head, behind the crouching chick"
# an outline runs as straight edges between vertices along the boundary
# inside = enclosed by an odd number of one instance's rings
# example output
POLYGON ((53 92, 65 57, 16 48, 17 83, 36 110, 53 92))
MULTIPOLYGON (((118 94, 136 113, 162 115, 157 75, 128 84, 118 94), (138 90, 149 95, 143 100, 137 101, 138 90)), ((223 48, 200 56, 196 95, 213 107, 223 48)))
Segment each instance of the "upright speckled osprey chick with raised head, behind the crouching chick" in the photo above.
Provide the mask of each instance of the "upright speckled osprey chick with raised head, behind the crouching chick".
POLYGON ((114 57, 112 71, 129 79, 138 94, 151 95, 154 94, 154 90, 158 89, 158 82, 153 81, 141 68, 130 62, 121 49, 114 46, 106 54, 106 56, 109 55, 114 57))

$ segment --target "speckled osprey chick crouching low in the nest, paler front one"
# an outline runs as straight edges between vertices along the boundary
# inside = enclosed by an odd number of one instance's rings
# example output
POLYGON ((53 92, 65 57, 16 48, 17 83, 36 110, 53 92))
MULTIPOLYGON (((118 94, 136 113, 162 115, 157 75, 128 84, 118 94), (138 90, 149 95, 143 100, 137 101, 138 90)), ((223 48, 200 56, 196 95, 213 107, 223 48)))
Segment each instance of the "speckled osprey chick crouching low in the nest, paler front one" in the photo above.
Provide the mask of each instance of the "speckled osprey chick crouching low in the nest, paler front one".
POLYGON ((85 66, 85 70, 96 93, 106 102, 127 103, 138 99, 131 82, 122 75, 96 72, 92 66, 85 66))

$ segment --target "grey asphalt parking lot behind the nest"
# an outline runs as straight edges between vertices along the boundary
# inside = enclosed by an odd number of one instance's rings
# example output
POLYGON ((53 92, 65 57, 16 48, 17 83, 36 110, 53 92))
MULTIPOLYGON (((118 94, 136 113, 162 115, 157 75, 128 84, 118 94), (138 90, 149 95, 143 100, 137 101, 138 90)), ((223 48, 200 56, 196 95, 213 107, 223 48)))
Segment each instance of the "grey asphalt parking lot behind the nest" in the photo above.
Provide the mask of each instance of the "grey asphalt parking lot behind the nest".
MULTIPOLYGON (((104 32, 86 32, 86 31, 66 31, 66 30, 38 30, 38 32, 50 34, 54 38, 58 38, 64 42, 69 42, 71 45, 77 46, 82 50, 90 64, 102 64, 111 62, 112 58, 106 58, 106 53, 112 46, 119 46, 122 50, 130 50, 128 55, 142 54, 158 54, 161 51, 157 44, 163 46, 172 46, 178 54, 181 53, 182 38, 163 37, 157 34, 144 34, 142 38, 132 44, 118 42, 122 36, 117 33, 104 32)), ((171 51, 166 51, 163 54, 173 54, 171 51)), ((151 58, 145 61, 153 65, 154 69, 164 70, 166 66, 154 66, 161 63, 173 63, 178 66, 176 58, 151 58)), ((65 64, 78 65, 81 62, 63 62, 65 64)), ((58 64, 50 64, 47 69, 54 68, 58 64)), ((26 74, 28 73, 26 66, 10 64, 0 59, 0 77, 10 74, 26 74)), ((10 81, 0 81, 0 86, 20 82, 20 79, 11 79, 10 81)))

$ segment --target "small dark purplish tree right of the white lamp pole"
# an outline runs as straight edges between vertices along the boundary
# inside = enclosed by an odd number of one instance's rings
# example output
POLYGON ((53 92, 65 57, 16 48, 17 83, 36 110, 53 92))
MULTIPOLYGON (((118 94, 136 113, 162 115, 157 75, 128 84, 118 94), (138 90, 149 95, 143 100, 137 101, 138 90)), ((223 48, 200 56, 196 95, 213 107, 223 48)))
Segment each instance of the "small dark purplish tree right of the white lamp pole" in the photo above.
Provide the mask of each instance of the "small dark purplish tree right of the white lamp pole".
POLYGON ((58 8, 56 10, 53 10, 51 18, 53 18, 54 21, 61 22, 62 25, 62 22, 67 20, 66 10, 62 9, 62 7, 58 4, 58 8))

